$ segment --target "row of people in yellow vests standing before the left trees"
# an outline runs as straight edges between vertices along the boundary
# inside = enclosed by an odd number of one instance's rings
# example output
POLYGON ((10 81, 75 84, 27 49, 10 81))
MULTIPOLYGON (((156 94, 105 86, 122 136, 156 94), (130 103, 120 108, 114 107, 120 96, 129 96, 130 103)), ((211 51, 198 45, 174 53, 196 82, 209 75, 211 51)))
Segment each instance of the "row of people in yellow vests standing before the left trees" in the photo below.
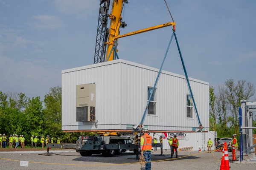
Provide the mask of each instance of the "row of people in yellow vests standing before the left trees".
MULTIPOLYGON (((31 136, 30 138, 30 142, 31 142, 31 148, 34 147, 37 148, 37 144, 39 142, 40 139, 38 139, 37 136, 34 135, 31 136)), ((5 134, 0 134, 0 148, 6 148, 6 143, 7 143, 8 139, 7 136, 5 134)), ((53 142, 53 138, 49 141, 49 137, 47 136, 46 139, 44 139, 44 135, 42 135, 41 140, 40 140, 41 144, 42 144, 42 148, 44 148, 44 143, 49 144, 49 142, 54 143, 53 142)), ((57 143, 60 144, 61 140, 60 138, 57 139, 57 143)), ((23 135, 20 135, 20 137, 18 137, 17 134, 13 134, 10 135, 9 137, 9 147, 12 148, 17 148, 20 145, 21 148, 25 148, 25 138, 23 135)))

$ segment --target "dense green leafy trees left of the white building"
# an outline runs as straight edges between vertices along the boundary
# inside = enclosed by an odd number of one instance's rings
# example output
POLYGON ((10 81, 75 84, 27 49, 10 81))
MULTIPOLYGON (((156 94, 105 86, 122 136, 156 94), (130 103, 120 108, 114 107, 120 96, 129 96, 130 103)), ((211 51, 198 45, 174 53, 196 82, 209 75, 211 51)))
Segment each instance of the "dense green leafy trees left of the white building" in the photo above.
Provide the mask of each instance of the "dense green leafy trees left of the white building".
MULTIPOLYGON (((50 135, 54 142, 75 143, 79 132, 61 130, 61 87, 50 88, 49 94, 28 98, 23 93, 0 91, 0 133, 7 138, 11 134, 22 134, 26 142, 32 135, 50 135), (43 106, 44 105, 44 106, 43 106)), ((9 140, 8 140, 9 141, 9 140)), ((40 140, 39 140, 40 142, 40 140)))

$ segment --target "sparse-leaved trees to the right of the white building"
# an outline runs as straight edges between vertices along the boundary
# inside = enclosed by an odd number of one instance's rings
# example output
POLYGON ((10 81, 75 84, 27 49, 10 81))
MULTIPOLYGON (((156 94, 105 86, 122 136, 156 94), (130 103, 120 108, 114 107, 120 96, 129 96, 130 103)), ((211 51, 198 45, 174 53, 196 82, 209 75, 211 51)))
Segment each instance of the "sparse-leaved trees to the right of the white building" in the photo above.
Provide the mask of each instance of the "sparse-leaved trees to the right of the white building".
MULTIPOLYGON (((218 137, 232 137, 232 134, 236 134, 239 141, 241 100, 256 100, 250 99, 254 94, 254 85, 246 80, 239 80, 235 83, 233 79, 227 79, 223 85, 210 86, 209 130, 217 131, 218 137)), ((256 126, 255 117, 253 126, 256 126)), ((253 133, 256 133, 255 129, 253 133)))

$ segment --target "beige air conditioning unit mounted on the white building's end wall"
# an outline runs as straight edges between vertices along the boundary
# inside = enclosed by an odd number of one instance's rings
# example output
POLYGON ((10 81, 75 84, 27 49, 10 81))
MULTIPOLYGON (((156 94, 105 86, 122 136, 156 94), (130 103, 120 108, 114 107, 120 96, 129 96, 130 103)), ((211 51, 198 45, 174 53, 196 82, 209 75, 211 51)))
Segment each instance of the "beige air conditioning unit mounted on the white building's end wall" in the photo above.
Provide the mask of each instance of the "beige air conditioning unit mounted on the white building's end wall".
POLYGON ((94 122, 96 85, 76 85, 76 122, 94 122))

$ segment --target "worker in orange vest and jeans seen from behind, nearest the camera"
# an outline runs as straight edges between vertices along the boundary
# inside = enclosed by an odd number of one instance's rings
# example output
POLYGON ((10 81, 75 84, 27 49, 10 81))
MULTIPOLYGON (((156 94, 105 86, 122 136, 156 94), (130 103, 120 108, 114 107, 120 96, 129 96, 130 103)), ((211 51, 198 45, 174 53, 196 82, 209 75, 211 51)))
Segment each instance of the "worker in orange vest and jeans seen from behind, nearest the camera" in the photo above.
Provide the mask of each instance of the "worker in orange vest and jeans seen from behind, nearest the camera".
POLYGON ((140 138, 141 155, 144 156, 146 161, 145 170, 151 170, 151 150, 152 150, 152 137, 148 135, 148 129, 143 130, 144 135, 140 138))

